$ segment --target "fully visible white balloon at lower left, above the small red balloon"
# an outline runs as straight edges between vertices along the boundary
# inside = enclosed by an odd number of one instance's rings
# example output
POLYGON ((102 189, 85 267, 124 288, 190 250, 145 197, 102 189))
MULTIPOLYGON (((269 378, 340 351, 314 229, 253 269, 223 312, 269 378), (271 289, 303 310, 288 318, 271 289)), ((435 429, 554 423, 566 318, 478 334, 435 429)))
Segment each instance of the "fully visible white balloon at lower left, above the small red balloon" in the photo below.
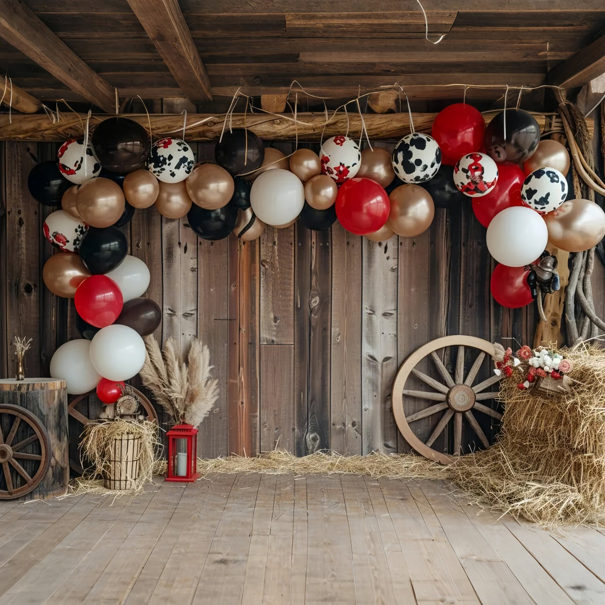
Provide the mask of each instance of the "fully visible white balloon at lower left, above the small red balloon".
POLYGON ((145 363, 145 342, 128 325, 112 324, 101 328, 90 343, 90 361, 108 380, 128 380, 145 363))

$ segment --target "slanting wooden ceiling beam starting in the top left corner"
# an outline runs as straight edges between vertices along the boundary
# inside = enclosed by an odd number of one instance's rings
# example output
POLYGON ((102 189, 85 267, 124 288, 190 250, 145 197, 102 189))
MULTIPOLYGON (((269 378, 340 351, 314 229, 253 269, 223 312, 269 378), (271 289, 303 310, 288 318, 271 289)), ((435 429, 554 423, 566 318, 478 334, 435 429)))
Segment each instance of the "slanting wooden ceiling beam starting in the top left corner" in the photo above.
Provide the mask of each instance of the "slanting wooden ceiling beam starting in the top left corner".
POLYGON ((0 36, 74 92, 114 111, 115 91, 19 0, 0 0, 0 36))

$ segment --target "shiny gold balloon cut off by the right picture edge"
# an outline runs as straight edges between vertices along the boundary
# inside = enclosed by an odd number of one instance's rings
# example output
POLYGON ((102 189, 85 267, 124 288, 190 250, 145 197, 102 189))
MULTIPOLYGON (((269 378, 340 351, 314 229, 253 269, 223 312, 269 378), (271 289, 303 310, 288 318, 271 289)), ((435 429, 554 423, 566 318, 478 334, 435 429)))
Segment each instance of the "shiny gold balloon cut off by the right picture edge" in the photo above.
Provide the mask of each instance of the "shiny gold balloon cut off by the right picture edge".
POLYGON ((605 237, 605 212, 589 200, 568 200, 542 217, 548 240, 560 250, 583 252, 605 237))

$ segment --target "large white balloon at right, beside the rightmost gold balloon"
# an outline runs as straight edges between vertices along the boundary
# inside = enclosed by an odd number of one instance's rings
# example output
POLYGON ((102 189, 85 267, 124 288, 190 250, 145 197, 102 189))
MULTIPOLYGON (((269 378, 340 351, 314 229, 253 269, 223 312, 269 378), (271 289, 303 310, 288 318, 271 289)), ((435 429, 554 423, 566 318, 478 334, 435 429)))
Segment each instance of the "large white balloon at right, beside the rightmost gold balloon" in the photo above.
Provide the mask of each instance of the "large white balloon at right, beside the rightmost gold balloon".
POLYGON ((513 206, 499 212, 488 226, 489 253, 508 267, 533 263, 546 248, 548 229, 531 208, 513 206))

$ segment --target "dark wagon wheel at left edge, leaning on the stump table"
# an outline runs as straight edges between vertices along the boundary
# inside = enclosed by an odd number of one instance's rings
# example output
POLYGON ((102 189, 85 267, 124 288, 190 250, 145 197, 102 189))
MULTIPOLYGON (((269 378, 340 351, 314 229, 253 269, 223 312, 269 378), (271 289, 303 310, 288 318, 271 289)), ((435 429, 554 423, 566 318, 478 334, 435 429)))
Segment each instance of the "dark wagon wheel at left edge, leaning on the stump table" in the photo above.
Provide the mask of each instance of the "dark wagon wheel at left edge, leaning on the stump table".
POLYGON ((28 494, 50 466, 46 428, 19 405, 0 405, 0 465, 0 500, 28 494))

